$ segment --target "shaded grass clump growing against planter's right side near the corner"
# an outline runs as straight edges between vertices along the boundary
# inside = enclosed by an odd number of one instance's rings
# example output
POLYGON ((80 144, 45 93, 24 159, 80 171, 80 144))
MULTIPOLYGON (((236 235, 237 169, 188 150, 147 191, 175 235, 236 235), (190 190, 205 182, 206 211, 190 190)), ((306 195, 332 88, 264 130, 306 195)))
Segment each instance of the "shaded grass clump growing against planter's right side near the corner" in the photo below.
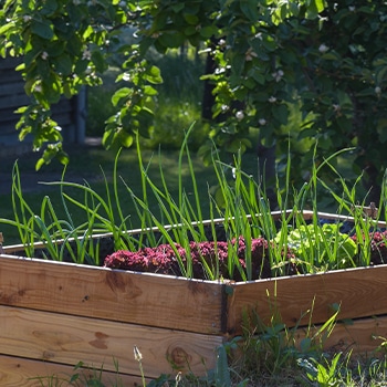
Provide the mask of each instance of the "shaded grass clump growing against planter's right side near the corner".
POLYGON ((286 385, 289 380, 293 383, 301 377, 301 359, 321 356, 324 343, 336 324, 339 308, 324 324, 315 327, 311 323, 312 304, 299 322, 289 327, 282 322, 275 302, 271 307, 272 318, 268 323, 254 312, 243 315, 243 335, 239 337, 239 351, 231 357, 231 367, 250 380, 268 380, 268 384, 262 383, 263 386, 286 385), (303 328, 304 337, 300 338, 300 323, 307 315, 310 322, 303 328))

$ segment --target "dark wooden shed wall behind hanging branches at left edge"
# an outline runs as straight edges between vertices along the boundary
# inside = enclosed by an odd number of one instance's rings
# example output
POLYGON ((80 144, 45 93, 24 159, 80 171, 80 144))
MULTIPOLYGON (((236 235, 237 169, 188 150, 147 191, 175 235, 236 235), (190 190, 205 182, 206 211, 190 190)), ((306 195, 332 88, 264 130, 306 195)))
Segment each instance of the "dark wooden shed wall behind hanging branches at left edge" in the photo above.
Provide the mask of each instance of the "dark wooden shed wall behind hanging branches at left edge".
MULTIPOLYGON (((20 106, 29 104, 29 96, 24 93, 24 82, 20 72, 14 69, 20 59, 0 59, 0 153, 22 154, 31 150, 31 140, 19 140, 15 124, 19 115, 14 113, 20 106)), ((65 143, 83 144, 85 140, 86 93, 67 100, 62 98, 54 105, 53 119, 63 128, 65 143)))

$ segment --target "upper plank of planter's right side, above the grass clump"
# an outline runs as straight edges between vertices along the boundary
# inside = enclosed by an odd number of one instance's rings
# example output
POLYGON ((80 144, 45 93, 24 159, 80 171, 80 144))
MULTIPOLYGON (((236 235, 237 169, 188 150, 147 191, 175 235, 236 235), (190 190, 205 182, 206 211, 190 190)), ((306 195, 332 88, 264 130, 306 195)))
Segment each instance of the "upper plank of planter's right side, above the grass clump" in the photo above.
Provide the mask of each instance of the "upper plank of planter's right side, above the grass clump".
MULTIPOLYGON (((287 326, 324 323, 341 305, 338 318, 387 314, 387 265, 348 269, 232 285, 228 331, 240 333, 243 310, 254 310, 264 323, 279 312, 287 326), (313 307, 312 316, 307 314, 313 307)), ((230 292, 229 292, 230 293, 230 292)))

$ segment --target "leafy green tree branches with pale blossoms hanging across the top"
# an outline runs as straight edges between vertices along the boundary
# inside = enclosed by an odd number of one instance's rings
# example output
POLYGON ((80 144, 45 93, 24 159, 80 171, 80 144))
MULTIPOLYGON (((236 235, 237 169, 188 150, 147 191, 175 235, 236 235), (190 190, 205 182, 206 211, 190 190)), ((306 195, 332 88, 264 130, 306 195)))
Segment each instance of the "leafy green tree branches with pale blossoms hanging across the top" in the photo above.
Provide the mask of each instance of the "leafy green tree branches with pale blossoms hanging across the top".
MULTIPOLYGON (((216 63, 206 77, 215 86, 213 116, 223 117, 211 130, 220 147, 249 146, 250 127, 266 146, 279 142, 296 105, 297 138, 317 140, 320 157, 354 146, 358 171, 375 184, 387 142, 386 21, 385 2, 370 0, 6 0, 0 53, 23 55, 18 70, 31 104, 19 109, 18 129, 20 138, 33 135, 35 149, 48 144, 40 164, 66 159, 52 104, 100 84, 112 55, 123 57, 126 86, 113 97, 117 113, 104 144, 146 136, 163 79, 145 55, 189 42, 216 63), (130 44, 119 39, 126 27, 135 31, 130 44)), ((206 156, 209 146, 201 150, 206 156)))

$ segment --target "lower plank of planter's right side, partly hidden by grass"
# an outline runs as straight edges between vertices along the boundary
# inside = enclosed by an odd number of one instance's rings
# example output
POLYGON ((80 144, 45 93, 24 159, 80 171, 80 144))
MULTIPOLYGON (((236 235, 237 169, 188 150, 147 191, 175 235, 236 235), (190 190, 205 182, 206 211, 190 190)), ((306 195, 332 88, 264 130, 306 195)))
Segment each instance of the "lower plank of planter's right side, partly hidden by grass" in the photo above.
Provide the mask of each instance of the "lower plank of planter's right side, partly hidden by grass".
MULTIPOLYGON (((311 333, 316 330, 311 330, 311 333)), ((299 328, 294 337, 300 343, 305 336, 306 330, 299 328)), ((324 342, 324 349, 366 355, 375 352, 385 341, 383 337, 387 337, 387 316, 355 320, 351 324, 337 323, 324 342)))

